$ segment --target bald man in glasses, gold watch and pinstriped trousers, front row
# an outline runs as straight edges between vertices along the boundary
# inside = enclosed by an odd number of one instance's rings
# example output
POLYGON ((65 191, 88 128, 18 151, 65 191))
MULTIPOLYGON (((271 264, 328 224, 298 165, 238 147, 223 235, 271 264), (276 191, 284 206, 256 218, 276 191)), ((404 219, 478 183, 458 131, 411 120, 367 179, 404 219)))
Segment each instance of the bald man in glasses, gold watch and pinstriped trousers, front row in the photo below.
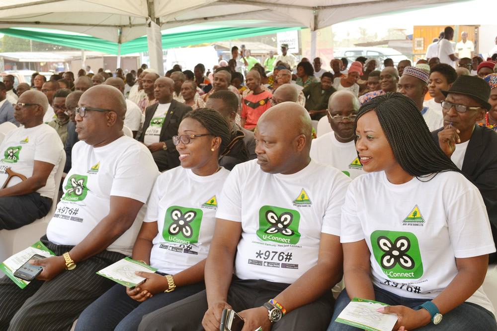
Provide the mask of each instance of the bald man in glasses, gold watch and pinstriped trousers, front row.
MULTIPOLYGON (((19 112, 39 112, 35 106, 19 112)), ((0 280, 1 330, 71 329, 84 308, 115 284, 96 272, 131 255, 140 227, 135 218, 147 202, 157 167, 147 148, 122 132, 126 103, 121 92, 98 85, 83 93, 79 106, 80 141, 73 148, 64 195, 41 238, 56 256, 30 262, 43 271, 24 289, 7 277, 0 280)))

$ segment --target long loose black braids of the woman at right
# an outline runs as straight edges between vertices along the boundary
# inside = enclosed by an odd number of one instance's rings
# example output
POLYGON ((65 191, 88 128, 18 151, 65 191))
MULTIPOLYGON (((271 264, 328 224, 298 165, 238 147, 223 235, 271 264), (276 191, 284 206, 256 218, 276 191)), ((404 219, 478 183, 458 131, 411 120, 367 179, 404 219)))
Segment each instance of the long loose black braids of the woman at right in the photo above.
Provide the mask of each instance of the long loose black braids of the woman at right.
POLYGON ((395 159, 408 174, 418 180, 423 177, 430 177, 431 180, 434 177, 431 174, 445 171, 462 174, 433 141, 421 112, 411 98, 398 92, 387 92, 371 99, 359 109, 354 130, 359 118, 371 110, 378 116, 395 159))

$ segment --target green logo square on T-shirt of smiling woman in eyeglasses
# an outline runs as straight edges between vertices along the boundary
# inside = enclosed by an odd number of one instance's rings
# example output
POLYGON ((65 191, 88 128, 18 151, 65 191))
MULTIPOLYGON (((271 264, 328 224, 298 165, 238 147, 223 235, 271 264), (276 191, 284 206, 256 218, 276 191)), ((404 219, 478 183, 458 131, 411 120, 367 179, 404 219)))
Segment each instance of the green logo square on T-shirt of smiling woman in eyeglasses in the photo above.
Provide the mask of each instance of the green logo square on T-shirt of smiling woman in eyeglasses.
POLYGON ((203 212, 201 209, 170 206, 166 210, 162 236, 166 241, 196 243, 203 212))

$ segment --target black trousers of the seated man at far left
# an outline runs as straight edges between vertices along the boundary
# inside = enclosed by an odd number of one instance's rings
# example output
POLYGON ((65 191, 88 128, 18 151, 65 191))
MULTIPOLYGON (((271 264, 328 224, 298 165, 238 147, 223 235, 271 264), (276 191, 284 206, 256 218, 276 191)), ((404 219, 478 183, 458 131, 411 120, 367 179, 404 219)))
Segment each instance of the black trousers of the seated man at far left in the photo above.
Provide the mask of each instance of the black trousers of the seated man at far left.
POLYGON ((52 199, 38 192, 24 196, 0 198, 0 230, 18 229, 36 219, 46 216, 52 207, 52 199))

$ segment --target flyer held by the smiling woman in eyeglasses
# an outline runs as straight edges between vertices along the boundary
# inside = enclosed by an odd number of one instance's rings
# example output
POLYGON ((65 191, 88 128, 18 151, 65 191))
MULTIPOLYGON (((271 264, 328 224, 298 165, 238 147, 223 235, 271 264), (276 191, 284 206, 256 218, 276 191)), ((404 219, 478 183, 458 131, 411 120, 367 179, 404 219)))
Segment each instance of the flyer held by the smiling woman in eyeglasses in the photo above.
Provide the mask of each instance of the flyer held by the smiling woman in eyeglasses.
POLYGON ((137 276, 135 271, 156 272, 157 269, 144 263, 135 261, 130 258, 124 258, 116 263, 109 265, 97 274, 112 279, 116 283, 126 287, 135 287, 142 283, 146 278, 137 276))

